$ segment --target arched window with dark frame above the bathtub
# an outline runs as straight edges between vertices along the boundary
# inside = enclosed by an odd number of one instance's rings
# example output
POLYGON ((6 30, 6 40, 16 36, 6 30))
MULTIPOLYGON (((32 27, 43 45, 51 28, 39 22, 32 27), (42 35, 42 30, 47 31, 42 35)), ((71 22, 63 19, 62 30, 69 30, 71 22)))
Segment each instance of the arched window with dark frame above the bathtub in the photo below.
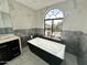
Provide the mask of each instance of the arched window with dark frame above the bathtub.
POLYGON ((58 9, 50 10, 44 20, 44 31, 47 36, 58 36, 62 31, 64 14, 58 9))

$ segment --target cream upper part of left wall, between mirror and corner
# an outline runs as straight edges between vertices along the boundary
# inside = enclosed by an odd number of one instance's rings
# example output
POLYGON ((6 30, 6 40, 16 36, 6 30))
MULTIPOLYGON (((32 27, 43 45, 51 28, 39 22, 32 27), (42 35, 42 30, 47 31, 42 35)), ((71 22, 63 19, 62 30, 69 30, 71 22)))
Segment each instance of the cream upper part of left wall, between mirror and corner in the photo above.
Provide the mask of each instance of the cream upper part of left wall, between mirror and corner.
POLYGON ((13 21, 13 30, 32 29, 35 20, 35 11, 17 1, 10 0, 9 2, 13 21))

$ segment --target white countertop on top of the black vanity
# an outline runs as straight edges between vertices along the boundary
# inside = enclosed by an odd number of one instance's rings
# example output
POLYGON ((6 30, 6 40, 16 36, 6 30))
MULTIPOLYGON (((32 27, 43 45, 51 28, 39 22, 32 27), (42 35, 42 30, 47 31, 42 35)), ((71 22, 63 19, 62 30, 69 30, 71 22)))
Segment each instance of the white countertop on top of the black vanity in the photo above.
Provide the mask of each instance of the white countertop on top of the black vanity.
POLYGON ((14 34, 2 34, 0 35, 0 44, 12 40, 17 40, 17 39, 20 39, 20 37, 15 36, 14 34))

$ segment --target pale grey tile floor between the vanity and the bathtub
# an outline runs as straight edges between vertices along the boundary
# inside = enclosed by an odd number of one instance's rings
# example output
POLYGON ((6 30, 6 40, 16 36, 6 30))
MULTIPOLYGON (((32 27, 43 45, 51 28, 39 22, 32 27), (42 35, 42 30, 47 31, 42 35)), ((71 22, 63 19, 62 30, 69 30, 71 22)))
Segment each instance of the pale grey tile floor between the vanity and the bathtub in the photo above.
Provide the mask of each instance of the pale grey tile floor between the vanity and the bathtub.
POLYGON ((8 62, 6 65, 48 65, 46 62, 34 55, 29 47, 23 48, 23 53, 8 62))

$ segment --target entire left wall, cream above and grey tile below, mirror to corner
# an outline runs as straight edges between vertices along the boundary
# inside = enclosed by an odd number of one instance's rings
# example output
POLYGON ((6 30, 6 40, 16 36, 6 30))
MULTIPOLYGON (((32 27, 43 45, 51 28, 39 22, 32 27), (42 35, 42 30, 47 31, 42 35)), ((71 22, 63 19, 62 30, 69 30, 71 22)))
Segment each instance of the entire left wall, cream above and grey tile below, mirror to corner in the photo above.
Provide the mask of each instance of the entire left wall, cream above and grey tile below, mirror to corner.
POLYGON ((15 0, 9 0, 13 33, 21 37, 22 47, 28 45, 28 39, 34 34, 35 11, 15 0))

